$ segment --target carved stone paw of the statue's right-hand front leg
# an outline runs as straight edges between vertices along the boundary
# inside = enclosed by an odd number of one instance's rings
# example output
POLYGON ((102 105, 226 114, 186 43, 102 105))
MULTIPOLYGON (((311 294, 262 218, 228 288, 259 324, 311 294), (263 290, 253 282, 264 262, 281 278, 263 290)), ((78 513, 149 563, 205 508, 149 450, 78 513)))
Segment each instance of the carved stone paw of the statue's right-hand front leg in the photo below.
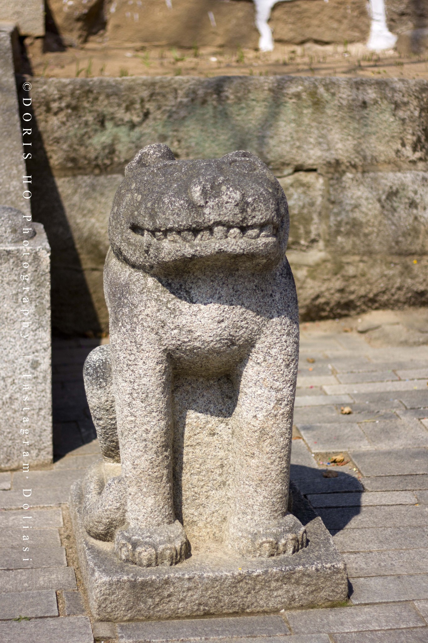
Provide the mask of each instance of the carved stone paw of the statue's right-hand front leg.
POLYGON ((300 520, 287 514, 266 525, 230 532, 230 545, 243 556, 292 556, 307 545, 306 530, 300 520))

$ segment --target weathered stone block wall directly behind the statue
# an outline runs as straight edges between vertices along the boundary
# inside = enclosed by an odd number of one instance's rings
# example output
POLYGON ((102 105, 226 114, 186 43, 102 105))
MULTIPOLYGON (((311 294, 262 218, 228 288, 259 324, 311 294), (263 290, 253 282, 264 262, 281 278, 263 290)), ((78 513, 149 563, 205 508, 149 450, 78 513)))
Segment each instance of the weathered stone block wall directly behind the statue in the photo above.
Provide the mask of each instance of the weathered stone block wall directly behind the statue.
POLYGON ((124 166, 250 150, 289 201, 304 319, 428 303, 428 83, 301 77, 33 78, 33 214, 56 329, 105 331, 107 221, 124 166), (34 144, 33 144, 34 145, 34 144), (415 263, 416 262, 416 263, 415 263))

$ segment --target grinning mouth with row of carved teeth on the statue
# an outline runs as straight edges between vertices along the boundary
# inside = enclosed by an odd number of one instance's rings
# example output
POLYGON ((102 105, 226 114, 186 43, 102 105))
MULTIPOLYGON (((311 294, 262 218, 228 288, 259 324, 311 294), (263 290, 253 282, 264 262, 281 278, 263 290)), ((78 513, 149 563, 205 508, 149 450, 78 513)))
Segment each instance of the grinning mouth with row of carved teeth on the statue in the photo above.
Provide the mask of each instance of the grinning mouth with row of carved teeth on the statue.
POLYGON ((209 228, 187 228, 186 230, 175 230, 167 228, 164 230, 141 228, 137 225, 130 226, 131 230, 141 237, 149 240, 167 240, 171 242, 203 242, 221 239, 273 239, 277 236, 278 228, 272 223, 262 226, 221 226, 214 225, 209 228))

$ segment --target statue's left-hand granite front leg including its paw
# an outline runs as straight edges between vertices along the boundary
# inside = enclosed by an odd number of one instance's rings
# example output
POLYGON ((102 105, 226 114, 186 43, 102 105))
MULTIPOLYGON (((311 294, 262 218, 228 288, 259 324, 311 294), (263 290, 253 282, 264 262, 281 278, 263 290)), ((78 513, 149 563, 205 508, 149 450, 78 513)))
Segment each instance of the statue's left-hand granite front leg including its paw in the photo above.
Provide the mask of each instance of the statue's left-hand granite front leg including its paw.
POLYGON ((172 489, 171 368, 156 338, 112 332, 117 433, 126 487, 126 525, 117 554, 141 566, 175 565, 187 554, 172 489))

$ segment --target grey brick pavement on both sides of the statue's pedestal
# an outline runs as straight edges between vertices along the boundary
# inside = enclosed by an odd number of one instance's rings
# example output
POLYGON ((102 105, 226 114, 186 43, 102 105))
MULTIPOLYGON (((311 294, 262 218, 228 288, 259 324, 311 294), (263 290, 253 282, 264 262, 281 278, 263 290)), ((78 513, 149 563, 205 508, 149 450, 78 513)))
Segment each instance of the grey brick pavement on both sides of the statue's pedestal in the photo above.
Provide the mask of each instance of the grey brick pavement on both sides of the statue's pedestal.
MULTIPOLYGON (((99 457, 81 377, 83 361, 97 343, 54 342, 56 462, 50 470, 31 472, 29 478, 14 473, 11 490, 10 474, 0 475, 0 509, 6 509, 0 511, 0 562, 6 556, 4 560, 13 565, 16 557, 19 564, 22 511, 13 507, 21 506, 17 494, 22 484, 34 489, 31 500, 40 507, 65 503, 69 485, 99 457), (3 554, 6 550, 8 554, 3 554)), ((348 561, 351 606, 263 617, 128 623, 117 628, 94 622, 93 634, 99 640, 119 636, 120 643, 203 638, 212 643, 237 643, 243 638, 246 643, 428 643, 425 357, 426 347, 373 349, 353 333, 302 334, 295 424, 303 439, 293 440, 291 477, 317 508, 348 561), (307 358, 315 362, 308 363, 307 358), (342 415, 341 406, 350 406, 352 413, 342 415), (327 467, 318 466, 314 453, 325 461, 338 451, 350 452, 350 465, 328 467, 338 476, 323 477, 327 467)), ((0 640, 21 643, 24 634, 32 643, 92 641, 74 570, 64 566, 60 508, 31 509, 28 515, 33 551, 35 557, 40 555, 38 566, 0 570, 0 593, 5 610, 28 606, 31 620, 0 622, 0 640), (60 617, 54 616, 55 592, 60 617)), ((13 618, 11 611, 4 613, 3 618, 13 618)))

